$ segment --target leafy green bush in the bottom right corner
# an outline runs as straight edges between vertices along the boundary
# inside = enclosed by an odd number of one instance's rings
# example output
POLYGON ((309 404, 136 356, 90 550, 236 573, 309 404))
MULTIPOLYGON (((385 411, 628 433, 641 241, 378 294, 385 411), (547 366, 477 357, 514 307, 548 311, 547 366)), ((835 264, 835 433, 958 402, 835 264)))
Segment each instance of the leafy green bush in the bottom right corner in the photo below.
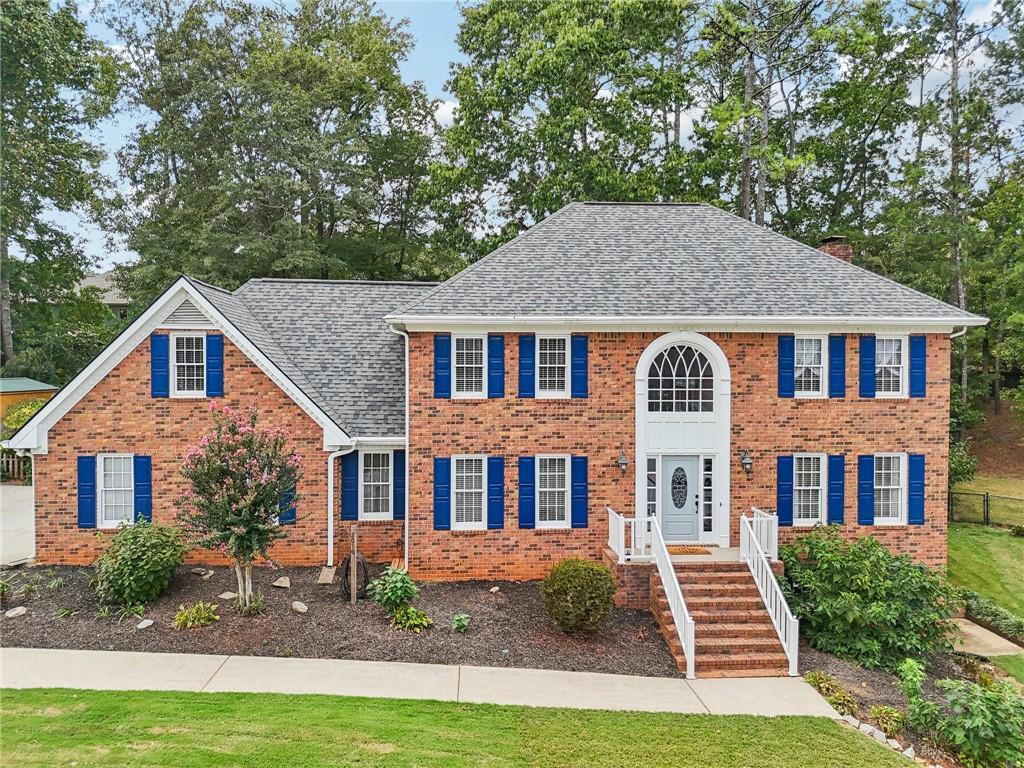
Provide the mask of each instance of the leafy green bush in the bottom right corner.
POLYGON ((955 751, 964 765, 1012 768, 1024 764, 1024 697, 1013 683, 984 686, 967 680, 940 680, 945 707, 921 692, 924 668, 912 658, 899 667, 910 724, 955 751))

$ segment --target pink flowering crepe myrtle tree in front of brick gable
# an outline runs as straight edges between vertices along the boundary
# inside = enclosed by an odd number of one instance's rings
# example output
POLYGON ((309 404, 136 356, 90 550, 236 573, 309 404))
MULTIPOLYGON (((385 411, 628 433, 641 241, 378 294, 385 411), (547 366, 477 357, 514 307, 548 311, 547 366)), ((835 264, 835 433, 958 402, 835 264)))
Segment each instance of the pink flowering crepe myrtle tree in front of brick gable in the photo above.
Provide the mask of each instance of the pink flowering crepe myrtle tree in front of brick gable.
POLYGON ((213 425, 184 455, 187 492, 178 519, 195 544, 234 561, 239 602, 252 605, 252 564, 269 561, 285 538, 280 516, 299 501, 301 457, 280 428, 262 429, 256 406, 239 410, 211 403, 213 425))

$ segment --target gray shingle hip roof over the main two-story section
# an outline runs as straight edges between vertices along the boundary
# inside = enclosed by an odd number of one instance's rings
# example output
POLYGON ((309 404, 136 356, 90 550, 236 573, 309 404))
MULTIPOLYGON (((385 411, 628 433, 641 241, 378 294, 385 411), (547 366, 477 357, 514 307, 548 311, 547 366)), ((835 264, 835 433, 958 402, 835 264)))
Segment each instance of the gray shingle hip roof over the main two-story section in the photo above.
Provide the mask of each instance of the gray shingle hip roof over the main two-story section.
POLYGON ((976 315, 710 205, 573 203, 394 316, 976 315))

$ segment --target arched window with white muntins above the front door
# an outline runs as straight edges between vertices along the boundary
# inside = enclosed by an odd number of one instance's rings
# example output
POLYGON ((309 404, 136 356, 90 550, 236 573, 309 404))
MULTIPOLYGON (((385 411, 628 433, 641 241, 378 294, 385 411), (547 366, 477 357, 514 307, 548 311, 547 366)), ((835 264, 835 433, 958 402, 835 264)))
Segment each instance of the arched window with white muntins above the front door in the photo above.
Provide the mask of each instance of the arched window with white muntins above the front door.
POLYGON ((715 376, 702 352, 677 344, 651 361, 647 371, 647 410, 705 414, 715 410, 715 376))

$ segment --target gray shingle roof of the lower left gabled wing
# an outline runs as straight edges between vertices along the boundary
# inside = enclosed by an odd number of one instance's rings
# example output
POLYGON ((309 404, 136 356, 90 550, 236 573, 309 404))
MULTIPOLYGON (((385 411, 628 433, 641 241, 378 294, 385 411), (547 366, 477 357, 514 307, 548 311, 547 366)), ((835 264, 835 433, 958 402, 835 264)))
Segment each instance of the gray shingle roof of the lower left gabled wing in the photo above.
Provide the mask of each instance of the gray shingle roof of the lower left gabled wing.
POLYGON ((383 317, 433 284, 261 279, 229 293, 191 283, 349 435, 406 433, 403 342, 383 317))

